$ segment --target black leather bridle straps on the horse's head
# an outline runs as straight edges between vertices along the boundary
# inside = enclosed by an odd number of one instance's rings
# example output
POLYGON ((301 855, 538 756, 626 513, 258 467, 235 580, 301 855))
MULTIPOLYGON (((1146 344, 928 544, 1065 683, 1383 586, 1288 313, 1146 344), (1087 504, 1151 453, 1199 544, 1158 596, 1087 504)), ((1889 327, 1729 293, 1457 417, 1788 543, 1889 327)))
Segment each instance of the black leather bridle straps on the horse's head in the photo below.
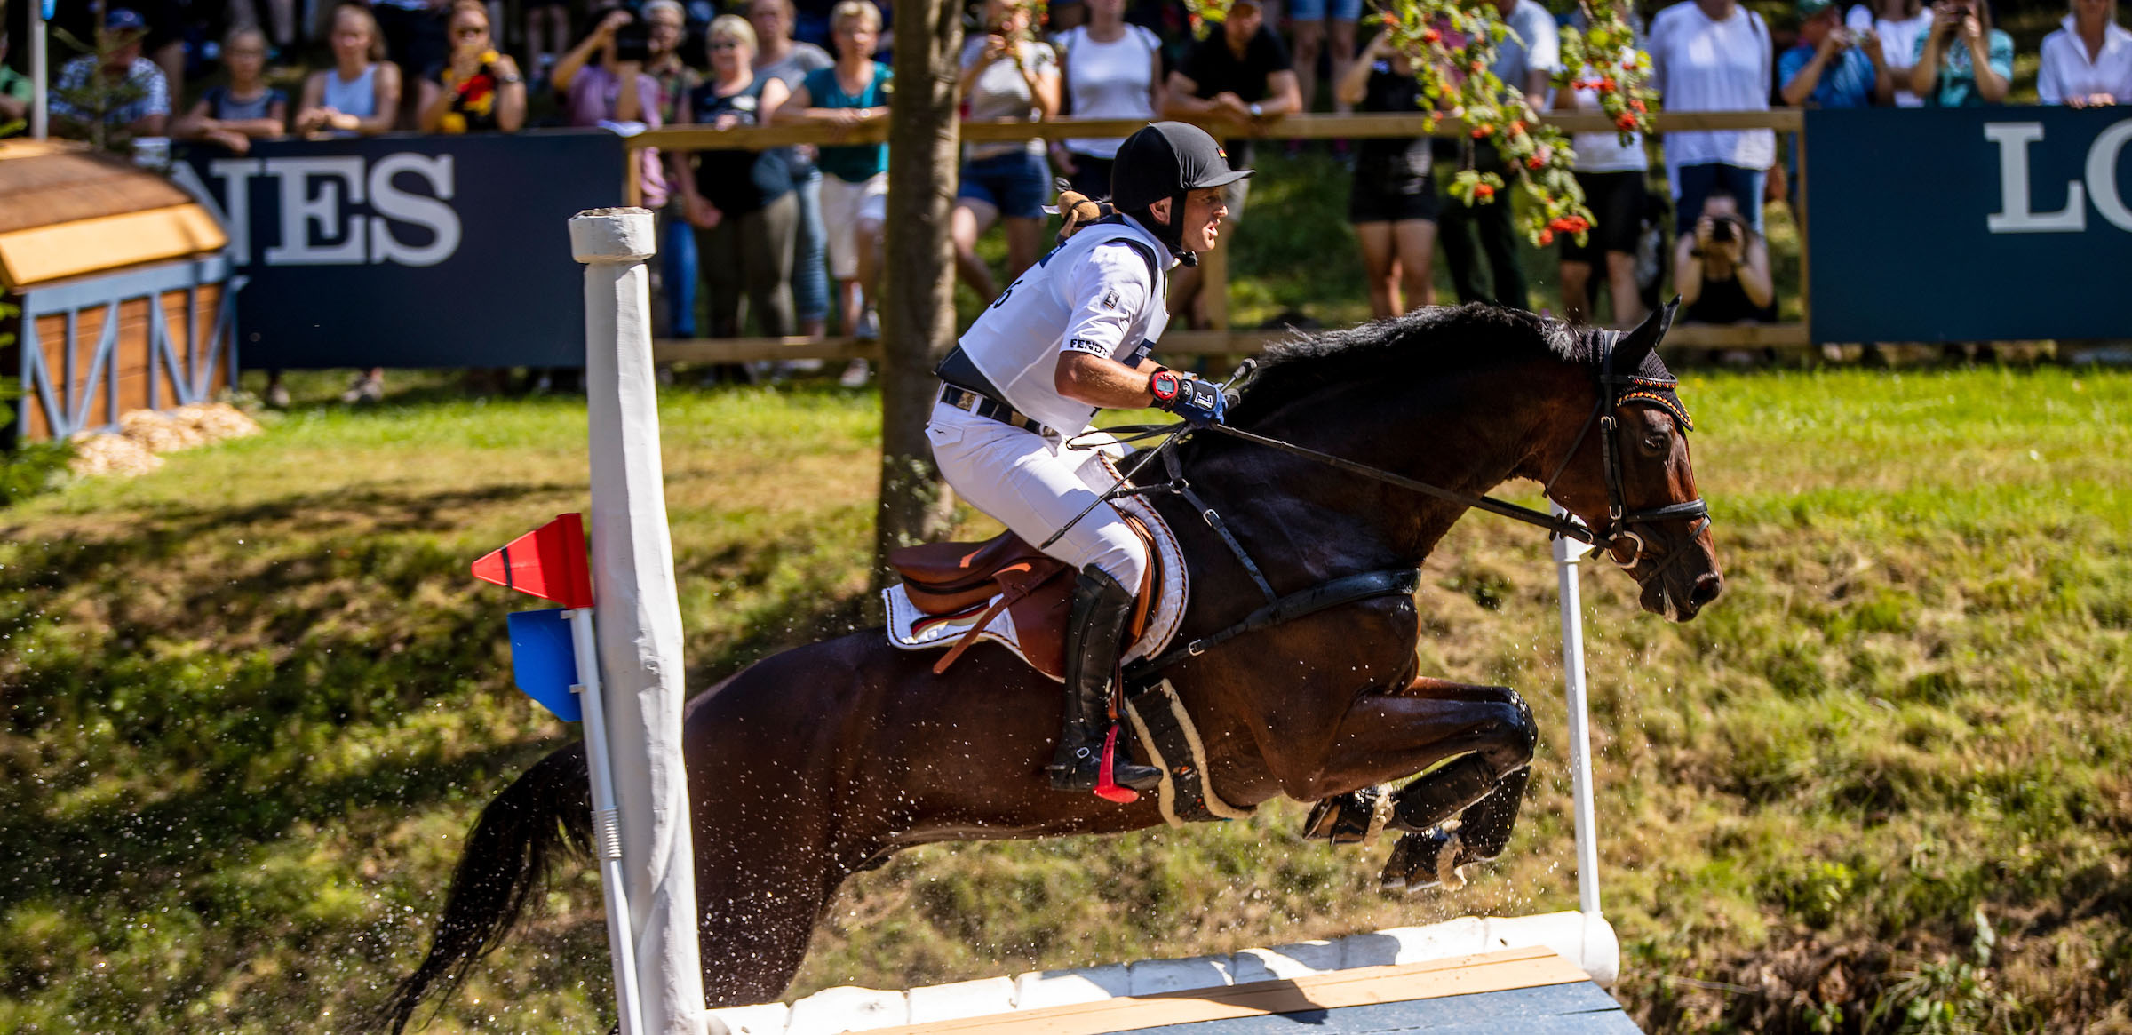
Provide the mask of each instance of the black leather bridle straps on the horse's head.
POLYGON ((1593 414, 1584 418, 1584 427, 1578 429, 1578 437, 1569 442, 1569 452, 1563 452, 1563 463, 1554 467, 1548 476, 1546 493, 1554 495, 1554 482, 1569 467, 1569 461, 1584 446, 1584 437, 1590 435, 1593 427, 1599 429, 1599 455, 1605 472, 1605 516, 1608 531, 1612 536, 1601 538, 1597 529, 1593 538, 1593 551, 1605 551, 1608 559, 1620 566, 1625 572, 1635 576, 1635 585, 1648 585, 1652 578, 1665 574, 1686 551, 1665 551, 1661 555, 1648 553, 1650 540, 1637 531, 1640 525, 1652 525, 1657 521, 1689 521, 1689 538, 1701 536, 1710 527, 1710 506, 1703 497, 1684 499, 1680 504, 1665 504, 1644 510, 1629 510, 1627 493, 1622 489, 1620 474, 1620 444, 1616 442, 1616 431, 1620 429, 1618 414, 1625 405, 1657 405, 1680 425, 1680 433, 1695 429, 1689 418, 1689 410, 1680 405, 1674 391, 1680 386, 1678 378, 1648 378, 1642 373, 1614 373, 1614 344, 1620 341, 1620 331, 1595 331, 1595 344, 1599 346, 1599 401, 1593 403, 1593 414), (1616 548, 1627 548, 1629 559, 1622 561, 1616 548), (1659 563, 1635 574, 1635 566, 1644 559, 1657 559, 1659 563))

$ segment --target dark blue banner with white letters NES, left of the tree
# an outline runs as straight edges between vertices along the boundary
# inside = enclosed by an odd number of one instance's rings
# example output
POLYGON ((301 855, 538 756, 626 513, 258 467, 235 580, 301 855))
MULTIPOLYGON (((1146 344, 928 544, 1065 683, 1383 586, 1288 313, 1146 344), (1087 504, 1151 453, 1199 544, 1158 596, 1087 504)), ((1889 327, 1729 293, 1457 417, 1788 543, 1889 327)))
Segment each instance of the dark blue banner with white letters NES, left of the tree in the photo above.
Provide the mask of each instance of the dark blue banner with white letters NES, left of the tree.
POLYGON ((612 132, 185 147, 230 233, 245 367, 578 367, 567 220, 623 203, 612 132))

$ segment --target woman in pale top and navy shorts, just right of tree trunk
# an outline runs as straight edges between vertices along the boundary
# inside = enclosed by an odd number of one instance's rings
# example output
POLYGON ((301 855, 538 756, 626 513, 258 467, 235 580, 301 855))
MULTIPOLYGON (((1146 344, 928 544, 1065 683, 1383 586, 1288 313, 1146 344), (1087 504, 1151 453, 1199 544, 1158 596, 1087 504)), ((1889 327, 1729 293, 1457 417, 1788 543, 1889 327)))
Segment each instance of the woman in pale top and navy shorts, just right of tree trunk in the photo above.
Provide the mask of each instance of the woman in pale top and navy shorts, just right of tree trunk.
MULTIPOLYGON (((962 49, 962 98, 972 122, 1049 120, 1060 111, 1060 64, 1051 47, 1030 38, 1030 9, 1008 0, 985 2, 987 36, 962 49)), ((1043 141, 968 143, 949 237, 964 284, 987 301, 998 294, 991 267, 976 254, 976 239, 994 222, 1006 224, 1006 280, 1036 262, 1045 233, 1051 173, 1043 141)))

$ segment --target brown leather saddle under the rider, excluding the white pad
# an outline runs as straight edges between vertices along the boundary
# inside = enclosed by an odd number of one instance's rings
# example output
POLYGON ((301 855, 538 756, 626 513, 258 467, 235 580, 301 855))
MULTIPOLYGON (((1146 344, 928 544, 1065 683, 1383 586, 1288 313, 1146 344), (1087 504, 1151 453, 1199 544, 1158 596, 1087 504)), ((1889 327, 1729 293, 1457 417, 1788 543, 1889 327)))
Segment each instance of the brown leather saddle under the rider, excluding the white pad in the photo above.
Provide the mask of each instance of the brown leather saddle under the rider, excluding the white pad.
MULTIPOLYGON (((1162 585, 1162 553, 1136 516, 1126 514, 1126 525, 1147 546, 1147 574, 1134 589, 1132 621, 1126 623, 1132 642, 1147 634, 1156 587, 1162 585)), ((1030 664, 1051 679, 1066 679, 1066 621, 1072 617, 1075 583, 1066 561, 1002 531, 985 542, 925 542, 889 551, 889 566, 904 576, 904 593, 921 612, 955 619, 979 615, 970 632, 934 664, 934 672, 947 672, 985 625, 1006 610, 1030 664)))

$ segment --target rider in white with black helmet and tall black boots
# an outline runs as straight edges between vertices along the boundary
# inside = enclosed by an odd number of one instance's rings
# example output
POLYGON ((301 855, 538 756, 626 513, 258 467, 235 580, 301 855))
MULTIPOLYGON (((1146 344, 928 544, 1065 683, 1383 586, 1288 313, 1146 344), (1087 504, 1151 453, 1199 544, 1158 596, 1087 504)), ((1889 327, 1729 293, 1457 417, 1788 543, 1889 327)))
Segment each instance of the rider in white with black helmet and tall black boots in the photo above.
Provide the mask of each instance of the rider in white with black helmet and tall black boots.
MULTIPOLYGON (((1028 542, 1066 527, 1047 553, 1070 563, 1066 726, 1051 755, 1055 790, 1094 790, 1109 723, 1111 676, 1126 619, 1147 574, 1147 548, 1098 493, 1115 482, 1100 450, 1068 450, 1096 410, 1160 405, 1194 425, 1222 420, 1222 391, 1147 359, 1168 316, 1166 273, 1220 237, 1230 169, 1205 130, 1158 122, 1117 152, 1115 216, 1083 226, 987 307, 940 363, 940 403, 925 437, 947 482, 1028 542), (1094 504, 1094 510, 1089 506, 1094 504)), ((1115 764, 1113 779, 1147 790, 1153 766, 1115 764)))

